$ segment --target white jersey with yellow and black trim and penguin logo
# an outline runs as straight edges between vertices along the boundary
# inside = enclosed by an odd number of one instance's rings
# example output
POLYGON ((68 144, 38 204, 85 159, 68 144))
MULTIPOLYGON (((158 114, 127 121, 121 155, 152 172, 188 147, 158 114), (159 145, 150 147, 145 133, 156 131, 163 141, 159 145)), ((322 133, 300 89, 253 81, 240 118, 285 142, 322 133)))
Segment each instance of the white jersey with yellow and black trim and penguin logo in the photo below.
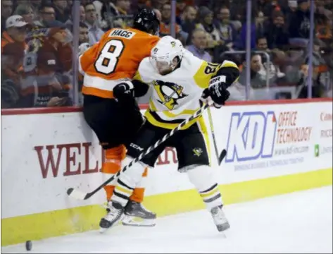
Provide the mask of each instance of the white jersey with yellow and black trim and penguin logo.
MULTIPOLYGON (((201 107, 199 99, 203 90, 208 87, 213 75, 224 67, 237 68, 237 65, 232 61, 208 63, 185 50, 180 66, 168 75, 160 75, 149 57, 146 57, 134 76, 134 79, 153 87, 146 119, 154 126, 168 129, 177 127, 201 107)), ((194 121, 184 128, 191 126, 194 121)))

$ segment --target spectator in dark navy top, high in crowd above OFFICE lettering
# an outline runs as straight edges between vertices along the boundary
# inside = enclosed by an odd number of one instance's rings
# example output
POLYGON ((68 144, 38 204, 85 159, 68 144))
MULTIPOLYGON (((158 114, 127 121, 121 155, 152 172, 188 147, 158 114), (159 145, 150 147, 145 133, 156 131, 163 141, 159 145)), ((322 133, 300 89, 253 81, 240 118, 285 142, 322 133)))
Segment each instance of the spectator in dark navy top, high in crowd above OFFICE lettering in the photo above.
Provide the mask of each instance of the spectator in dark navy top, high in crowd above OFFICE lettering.
POLYGON ((272 23, 269 23, 265 29, 268 47, 285 49, 289 44, 289 34, 284 27, 284 15, 281 11, 275 11, 272 16, 272 23))

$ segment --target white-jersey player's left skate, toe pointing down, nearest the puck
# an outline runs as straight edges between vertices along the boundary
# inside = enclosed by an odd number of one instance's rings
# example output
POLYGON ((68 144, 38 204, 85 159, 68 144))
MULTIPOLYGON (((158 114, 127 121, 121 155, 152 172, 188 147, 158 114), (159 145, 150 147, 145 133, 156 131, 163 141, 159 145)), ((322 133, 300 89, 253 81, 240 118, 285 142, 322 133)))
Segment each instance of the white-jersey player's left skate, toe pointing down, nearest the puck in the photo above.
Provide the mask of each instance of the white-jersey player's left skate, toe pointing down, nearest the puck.
POLYGON ((124 217, 124 207, 118 202, 109 202, 106 210, 108 214, 99 222, 99 231, 101 233, 117 224, 124 217))

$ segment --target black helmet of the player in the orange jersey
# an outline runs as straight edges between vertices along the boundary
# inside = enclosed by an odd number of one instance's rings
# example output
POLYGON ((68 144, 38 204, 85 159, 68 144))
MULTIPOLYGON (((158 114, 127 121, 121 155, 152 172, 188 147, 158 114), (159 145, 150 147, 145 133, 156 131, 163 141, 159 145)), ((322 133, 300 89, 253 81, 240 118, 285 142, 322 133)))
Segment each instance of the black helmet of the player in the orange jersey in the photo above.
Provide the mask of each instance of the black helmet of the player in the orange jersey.
POLYGON ((143 32, 152 32, 153 35, 158 35, 160 21, 154 11, 143 8, 137 16, 134 17, 133 28, 143 32))

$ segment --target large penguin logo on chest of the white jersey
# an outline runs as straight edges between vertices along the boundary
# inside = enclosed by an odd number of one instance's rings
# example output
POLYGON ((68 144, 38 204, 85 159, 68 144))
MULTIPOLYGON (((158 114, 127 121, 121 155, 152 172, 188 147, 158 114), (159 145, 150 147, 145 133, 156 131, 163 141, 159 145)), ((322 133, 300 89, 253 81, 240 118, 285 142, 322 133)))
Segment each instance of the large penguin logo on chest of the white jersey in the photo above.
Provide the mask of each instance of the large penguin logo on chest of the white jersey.
POLYGON ((177 100, 187 97, 182 90, 184 87, 175 83, 163 82, 161 80, 153 81, 153 87, 158 94, 158 102, 163 104, 169 110, 175 108, 178 105, 177 100))

